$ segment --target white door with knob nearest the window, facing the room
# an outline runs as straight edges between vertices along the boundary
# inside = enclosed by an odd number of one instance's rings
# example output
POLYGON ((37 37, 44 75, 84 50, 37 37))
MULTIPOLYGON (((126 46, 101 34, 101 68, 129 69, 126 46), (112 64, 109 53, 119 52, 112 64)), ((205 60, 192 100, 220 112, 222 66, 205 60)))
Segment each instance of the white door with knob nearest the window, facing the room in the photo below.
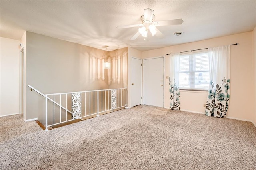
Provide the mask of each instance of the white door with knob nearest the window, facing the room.
POLYGON ((164 58, 143 61, 144 104, 164 107, 164 58))

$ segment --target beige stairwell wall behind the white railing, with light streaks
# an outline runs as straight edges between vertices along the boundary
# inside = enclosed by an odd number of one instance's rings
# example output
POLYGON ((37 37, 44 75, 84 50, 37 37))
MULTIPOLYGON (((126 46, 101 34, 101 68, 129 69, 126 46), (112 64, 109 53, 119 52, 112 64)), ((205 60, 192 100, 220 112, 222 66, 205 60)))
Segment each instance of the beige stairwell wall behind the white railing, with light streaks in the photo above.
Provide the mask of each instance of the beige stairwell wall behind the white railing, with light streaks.
POLYGON ((122 69, 122 73, 126 74, 127 71, 123 69, 127 66, 119 67, 118 57, 112 56, 115 54, 126 62, 127 48, 111 51, 109 59, 117 63, 117 68, 112 63, 111 70, 104 70, 102 59, 106 58, 106 51, 26 32, 26 119, 38 117, 42 121, 44 118, 39 116, 44 116, 45 110, 44 97, 30 91, 27 85, 44 94, 126 85, 127 80, 118 77, 118 73, 122 69))

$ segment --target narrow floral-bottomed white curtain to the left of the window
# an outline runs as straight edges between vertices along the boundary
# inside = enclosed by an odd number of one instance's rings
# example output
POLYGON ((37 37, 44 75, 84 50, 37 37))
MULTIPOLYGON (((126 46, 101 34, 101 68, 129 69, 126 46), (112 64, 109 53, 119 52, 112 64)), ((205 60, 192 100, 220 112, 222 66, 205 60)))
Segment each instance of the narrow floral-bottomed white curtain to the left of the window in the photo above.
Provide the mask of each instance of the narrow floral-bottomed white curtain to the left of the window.
POLYGON ((171 54, 170 57, 170 109, 180 110, 180 88, 179 88, 179 72, 180 72, 180 53, 171 54))

